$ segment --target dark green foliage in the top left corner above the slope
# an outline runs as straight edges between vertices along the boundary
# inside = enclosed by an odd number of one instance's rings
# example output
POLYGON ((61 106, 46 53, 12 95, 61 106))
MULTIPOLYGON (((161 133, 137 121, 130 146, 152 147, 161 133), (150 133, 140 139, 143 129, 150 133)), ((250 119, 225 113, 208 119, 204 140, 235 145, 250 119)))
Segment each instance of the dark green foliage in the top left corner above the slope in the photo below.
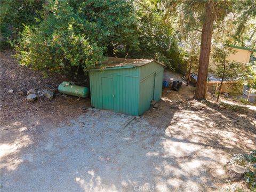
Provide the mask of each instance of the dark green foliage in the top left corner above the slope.
POLYGON ((0 1, 1 49, 10 47, 8 40, 16 39, 24 25, 36 25, 36 18, 41 18, 43 3, 33 0, 0 1))

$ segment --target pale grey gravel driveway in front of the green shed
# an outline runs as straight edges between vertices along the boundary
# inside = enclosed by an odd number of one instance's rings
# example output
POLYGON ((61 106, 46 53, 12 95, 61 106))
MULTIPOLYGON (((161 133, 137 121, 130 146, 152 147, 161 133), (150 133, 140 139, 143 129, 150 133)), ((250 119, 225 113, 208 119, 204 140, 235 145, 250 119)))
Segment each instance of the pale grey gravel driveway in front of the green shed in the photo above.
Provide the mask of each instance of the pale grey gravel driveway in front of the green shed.
POLYGON ((59 127, 20 127, 1 141, 1 191, 217 190, 227 158, 199 140, 207 129, 185 112, 166 127, 93 108, 59 127))

